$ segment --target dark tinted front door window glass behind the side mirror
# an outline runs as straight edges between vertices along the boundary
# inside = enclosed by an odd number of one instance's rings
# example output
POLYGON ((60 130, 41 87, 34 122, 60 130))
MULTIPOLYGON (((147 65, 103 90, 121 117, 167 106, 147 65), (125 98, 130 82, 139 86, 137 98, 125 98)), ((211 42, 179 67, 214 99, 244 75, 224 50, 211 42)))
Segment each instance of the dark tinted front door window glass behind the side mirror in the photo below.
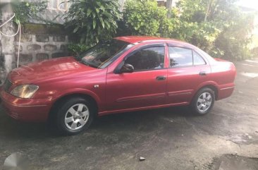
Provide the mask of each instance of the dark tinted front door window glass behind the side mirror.
POLYGON ((135 71, 156 70, 164 68, 164 47, 141 49, 128 57, 125 63, 132 65, 135 71))

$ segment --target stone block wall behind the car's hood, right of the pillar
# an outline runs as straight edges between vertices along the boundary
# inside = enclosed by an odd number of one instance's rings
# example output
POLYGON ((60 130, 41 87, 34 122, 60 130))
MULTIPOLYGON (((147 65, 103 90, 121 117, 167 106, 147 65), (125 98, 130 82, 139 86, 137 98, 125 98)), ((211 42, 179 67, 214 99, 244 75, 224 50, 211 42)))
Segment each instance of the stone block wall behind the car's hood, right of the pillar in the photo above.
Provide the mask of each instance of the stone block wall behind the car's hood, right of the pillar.
MULTIPOLYGON (((35 24, 23 26, 20 40, 20 65, 68 55, 68 36, 62 30, 54 34, 54 32, 49 31, 50 28, 46 27, 46 25, 35 24)), ((16 37, 15 44, 17 56, 18 37, 16 37)))

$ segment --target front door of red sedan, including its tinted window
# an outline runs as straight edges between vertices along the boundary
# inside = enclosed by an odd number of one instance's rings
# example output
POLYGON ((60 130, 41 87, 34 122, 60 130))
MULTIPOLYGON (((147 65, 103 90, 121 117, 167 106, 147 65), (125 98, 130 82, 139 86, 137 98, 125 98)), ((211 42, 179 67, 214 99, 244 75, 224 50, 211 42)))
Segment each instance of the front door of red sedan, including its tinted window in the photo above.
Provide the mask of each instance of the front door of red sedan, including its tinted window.
POLYGON ((167 69, 165 44, 150 44, 130 52, 119 64, 134 67, 133 73, 108 71, 106 110, 118 111, 165 104, 167 69))

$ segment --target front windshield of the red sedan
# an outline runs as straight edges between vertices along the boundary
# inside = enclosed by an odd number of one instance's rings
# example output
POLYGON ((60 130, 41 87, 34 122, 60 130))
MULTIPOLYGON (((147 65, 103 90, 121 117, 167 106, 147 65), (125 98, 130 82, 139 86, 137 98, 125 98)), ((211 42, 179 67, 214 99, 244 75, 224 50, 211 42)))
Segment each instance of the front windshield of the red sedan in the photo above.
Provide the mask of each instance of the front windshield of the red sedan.
POLYGON ((130 47, 133 47, 133 44, 120 40, 110 40, 97 44, 75 58, 87 66, 105 68, 130 47))

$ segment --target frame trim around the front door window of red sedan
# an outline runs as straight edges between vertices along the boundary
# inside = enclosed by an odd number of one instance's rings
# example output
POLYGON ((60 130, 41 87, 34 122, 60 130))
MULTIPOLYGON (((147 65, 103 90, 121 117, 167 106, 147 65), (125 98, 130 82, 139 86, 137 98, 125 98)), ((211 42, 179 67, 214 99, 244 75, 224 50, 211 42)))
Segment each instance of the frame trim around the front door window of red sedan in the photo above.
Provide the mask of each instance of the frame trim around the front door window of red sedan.
MULTIPOLYGON (((136 49, 133 49, 133 51, 130 51, 129 54, 127 54, 126 56, 123 57, 123 60, 121 61, 121 63, 118 64, 118 66, 116 66, 115 70, 113 71, 113 73, 119 74, 122 66, 125 64, 125 60, 128 59, 129 56, 132 56, 133 54, 137 53, 137 51, 140 51, 142 49, 147 49, 147 48, 151 48, 151 47, 164 47, 164 66, 165 66, 165 61, 166 61, 166 43, 161 42, 161 43, 155 43, 155 44, 145 44, 142 45, 141 47, 137 47, 136 49)), ((158 69, 148 69, 148 70, 140 70, 140 71, 134 71, 134 72, 141 72, 141 71, 158 71, 158 70, 163 70, 163 69, 167 69, 167 68, 158 68, 158 69)), ((134 73, 133 72, 133 73, 134 73)))

